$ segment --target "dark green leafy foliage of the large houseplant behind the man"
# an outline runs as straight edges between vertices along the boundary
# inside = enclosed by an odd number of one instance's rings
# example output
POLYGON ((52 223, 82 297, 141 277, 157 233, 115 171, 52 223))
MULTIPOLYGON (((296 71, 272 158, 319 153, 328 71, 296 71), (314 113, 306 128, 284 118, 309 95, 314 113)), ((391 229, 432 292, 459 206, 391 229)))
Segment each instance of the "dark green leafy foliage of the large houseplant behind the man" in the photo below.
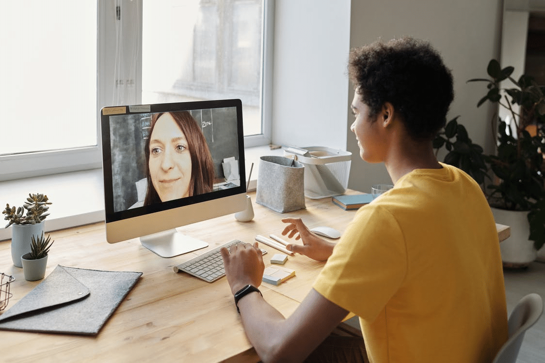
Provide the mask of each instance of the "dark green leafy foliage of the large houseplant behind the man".
POLYGON ((490 101, 508 110, 510 115, 509 124, 498 115, 492 120, 495 153, 484 155, 482 147, 473 144, 456 119, 434 140, 434 147, 445 145, 449 150, 445 162, 473 176, 483 186, 490 206, 524 212, 530 227, 528 239, 533 241, 534 249, 539 250, 545 244, 544 87, 527 75, 515 80, 511 77, 513 70, 511 66, 502 69, 493 59, 487 67, 490 78, 468 81, 487 85, 487 94, 477 107, 490 101), (486 173, 488 166, 492 177, 486 173))

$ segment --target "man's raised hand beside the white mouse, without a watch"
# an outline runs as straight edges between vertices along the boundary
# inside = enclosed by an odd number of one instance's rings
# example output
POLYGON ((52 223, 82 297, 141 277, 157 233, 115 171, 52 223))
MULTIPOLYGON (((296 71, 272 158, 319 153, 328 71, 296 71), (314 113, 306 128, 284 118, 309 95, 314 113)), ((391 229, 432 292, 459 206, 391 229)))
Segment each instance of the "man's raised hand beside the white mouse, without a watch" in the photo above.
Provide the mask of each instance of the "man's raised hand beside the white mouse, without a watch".
POLYGON ((329 256, 333 253, 333 247, 335 247, 334 243, 325 241, 325 239, 312 233, 302 222, 301 218, 284 218, 282 222, 289 223, 282 231, 283 236, 288 235, 289 238, 295 236, 296 240, 301 239, 303 242, 303 245, 288 244, 286 246, 288 250, 300 253, 316 261, 329 259, 329 256))

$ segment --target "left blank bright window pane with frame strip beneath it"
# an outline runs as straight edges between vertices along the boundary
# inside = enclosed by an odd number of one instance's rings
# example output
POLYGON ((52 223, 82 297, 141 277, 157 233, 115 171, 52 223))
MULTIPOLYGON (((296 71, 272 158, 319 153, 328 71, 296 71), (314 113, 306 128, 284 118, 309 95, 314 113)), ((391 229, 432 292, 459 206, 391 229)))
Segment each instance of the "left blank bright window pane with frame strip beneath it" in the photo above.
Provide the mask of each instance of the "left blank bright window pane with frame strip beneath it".
POLYGON ((0 12, 0 178, 63 163, 100 166, 96 3, 10 1, 0 12), (62 157, 59 149, 72 151, 62 157))

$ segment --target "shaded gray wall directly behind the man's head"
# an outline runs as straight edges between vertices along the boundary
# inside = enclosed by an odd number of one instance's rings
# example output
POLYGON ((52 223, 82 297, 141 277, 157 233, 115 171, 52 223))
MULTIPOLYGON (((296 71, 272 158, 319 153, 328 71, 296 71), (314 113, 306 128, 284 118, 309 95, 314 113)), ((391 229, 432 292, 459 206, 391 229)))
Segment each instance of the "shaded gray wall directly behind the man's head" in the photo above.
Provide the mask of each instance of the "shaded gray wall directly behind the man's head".
MULTIPOLYGON (((489 103, 477 109, 486 94, 480 83, 466 83, 470 78, 487 76, 492 58, 499 59, 501 35, 501 0, 354 0, 350 29, 350 47, 361 46, 381 37, 383 40, 403 35, 426 39, 441 53, 455 79, 455 100, 447 119, 456 115, 477 144, 492 152, 489 103)), ((348 87, 352 100, 352 85, 348 87)), ((425 102, 425 100, 423 100, 425 102)), ((345 107, 348 110, 348 104, 345 107)), ((345 129, 352 123, 347 113, 345 129)), ((384 164, 371 165, 358 158, 358 145, 347 131, 347 150, 352 151, 349 187, 368 192, 374 183, 390 182, 384 164)))

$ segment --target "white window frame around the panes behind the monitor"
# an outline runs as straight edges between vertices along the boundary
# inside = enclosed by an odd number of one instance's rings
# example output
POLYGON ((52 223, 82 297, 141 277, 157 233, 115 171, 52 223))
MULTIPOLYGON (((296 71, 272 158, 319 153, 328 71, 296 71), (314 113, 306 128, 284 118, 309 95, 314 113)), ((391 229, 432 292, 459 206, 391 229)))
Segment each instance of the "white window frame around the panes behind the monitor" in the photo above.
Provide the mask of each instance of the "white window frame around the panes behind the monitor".
MULTIPOLYGON (((122 7, 123 16, 130 16, 140 24, 140 32, 136 32, 137 43, 142 44, 142 1, 143 0, 98 0, 97 1, 97 109, 96 109, 96 136, 97 145, 76 149, 41 151, 17 155, 0 156, 0 181, 23 179, 51 174, 66 173, 69 171, 98 169, 102 167, 102 145, 100 130, 100 109, 112 106, 113 82, 108 77, 113 75, 114 62, 109 61, 106 54, 116 54, 116 40, 107 36, 114 31, 116 8, 122 7), (132 7, 132 8, 130 8, 132 7), (130 11, 125 11, 130 10, 130 11), (111 20, 114 20, 113 22, 111 20), (110 22, 108 23, 108 20, 110 22), (110 85, 108 85, 110 84, 110 85)), ((272 37, 274 34, 274 3, 275 0, 264 0, 263 7, 263 47, 261 79, 261 122, 262 133, 246 136, 245 147, 267 145, 271 141, 272 120, 272 37)), ((137 59, 134 77, 136 88, 136 102, 140 103, 142 94, 142 47, 137 47, 137 59)), ((132 102, 126 102, 132 103, 132 102)))

